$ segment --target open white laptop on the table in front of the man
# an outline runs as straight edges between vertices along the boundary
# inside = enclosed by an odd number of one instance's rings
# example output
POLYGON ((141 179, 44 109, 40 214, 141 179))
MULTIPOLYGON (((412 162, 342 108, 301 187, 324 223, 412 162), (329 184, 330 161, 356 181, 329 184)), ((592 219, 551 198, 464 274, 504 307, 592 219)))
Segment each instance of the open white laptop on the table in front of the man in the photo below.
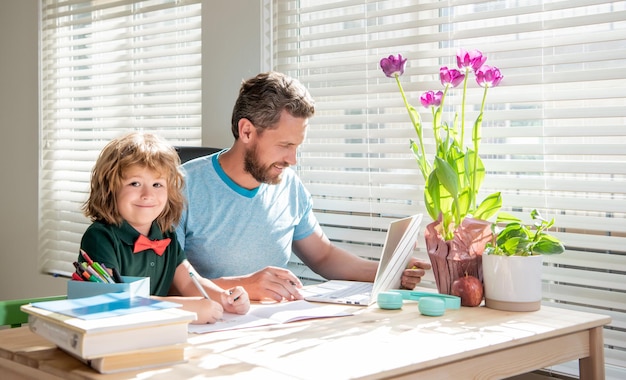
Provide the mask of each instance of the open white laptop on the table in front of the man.
POLYGON ((301 292, 312 302, 369 306, 378 293, 399 289, 402 272, 407 268, 415 248, 422 214, 393 221, 387 230, 383 252, 374 282, 330 280, 306 286, 301 292))

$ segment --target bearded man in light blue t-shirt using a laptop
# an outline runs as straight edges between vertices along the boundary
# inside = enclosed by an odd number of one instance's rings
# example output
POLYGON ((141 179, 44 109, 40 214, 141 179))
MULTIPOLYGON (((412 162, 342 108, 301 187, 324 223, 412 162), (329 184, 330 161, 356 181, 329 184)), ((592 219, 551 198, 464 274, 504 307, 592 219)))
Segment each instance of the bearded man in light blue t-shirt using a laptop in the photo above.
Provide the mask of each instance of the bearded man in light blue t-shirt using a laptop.
MULTIPOLYGON (((313 215, 309 192, 289 168, 305 139, 314 101, 277 72, 245 81, 232 114, 228 150, 183 165, 187 209, 176 230, 196 270, 251 300, 302 299, 286 269, 293 251, 327 279, 374 281, 378 263, 333 245, 313 215)), ((411 259, 402 286, 413 289, 430 264, 411 259)))

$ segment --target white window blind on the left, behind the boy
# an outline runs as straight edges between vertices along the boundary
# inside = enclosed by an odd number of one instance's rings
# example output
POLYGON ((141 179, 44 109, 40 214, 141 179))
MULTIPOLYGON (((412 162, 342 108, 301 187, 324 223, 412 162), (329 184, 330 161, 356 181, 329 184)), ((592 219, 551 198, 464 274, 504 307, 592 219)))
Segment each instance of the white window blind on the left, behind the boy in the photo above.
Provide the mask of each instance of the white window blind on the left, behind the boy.
POLYGON ((131 130, 201 141, 200 0, 42 0, 41 271, 74 271, 91 169, 131 130))

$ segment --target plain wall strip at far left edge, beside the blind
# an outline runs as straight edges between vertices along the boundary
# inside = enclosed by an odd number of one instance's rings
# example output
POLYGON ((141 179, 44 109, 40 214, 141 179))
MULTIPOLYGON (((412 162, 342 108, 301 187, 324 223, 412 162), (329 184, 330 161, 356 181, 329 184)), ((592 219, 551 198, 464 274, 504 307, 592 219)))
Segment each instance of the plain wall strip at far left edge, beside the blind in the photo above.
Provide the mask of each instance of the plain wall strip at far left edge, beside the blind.
POLYGON ((65 292, 38 274, 37 0, 0 2, 0 299, 65 292))

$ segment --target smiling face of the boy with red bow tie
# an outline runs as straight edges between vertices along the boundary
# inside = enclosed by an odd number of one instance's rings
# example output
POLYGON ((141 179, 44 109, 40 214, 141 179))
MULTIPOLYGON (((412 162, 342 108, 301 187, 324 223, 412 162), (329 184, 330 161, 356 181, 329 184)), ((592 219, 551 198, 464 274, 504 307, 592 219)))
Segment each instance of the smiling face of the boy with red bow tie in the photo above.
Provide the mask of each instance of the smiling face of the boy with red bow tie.
POLYGON ((133 165, 124 171, 122 186, 116 193, 117 209, 143 235, 167 204, 167 181, 159 173, 133 165))

